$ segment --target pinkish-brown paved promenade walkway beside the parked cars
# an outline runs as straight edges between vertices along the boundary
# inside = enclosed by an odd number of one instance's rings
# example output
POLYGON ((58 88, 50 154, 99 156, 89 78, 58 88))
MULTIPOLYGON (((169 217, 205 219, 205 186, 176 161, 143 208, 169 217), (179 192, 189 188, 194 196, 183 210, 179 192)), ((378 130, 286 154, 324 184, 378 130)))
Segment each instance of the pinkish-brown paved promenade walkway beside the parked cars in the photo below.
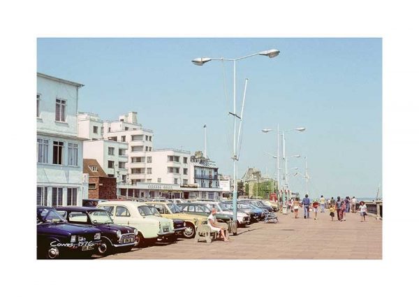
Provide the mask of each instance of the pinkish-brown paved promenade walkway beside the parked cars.
MULTIPOLYGON (((302 212, 302 211, 301 211, 302 212)), ((318 219, 281 215, 279 223, 259 222, 238 229, 230 242, 194 242, 179 239, 133 249, 101 259, 382 259, 382 222, 375 216, 360 222, 359 213, 347 213, 346 222, 330 221, 328 210, 318 219)))

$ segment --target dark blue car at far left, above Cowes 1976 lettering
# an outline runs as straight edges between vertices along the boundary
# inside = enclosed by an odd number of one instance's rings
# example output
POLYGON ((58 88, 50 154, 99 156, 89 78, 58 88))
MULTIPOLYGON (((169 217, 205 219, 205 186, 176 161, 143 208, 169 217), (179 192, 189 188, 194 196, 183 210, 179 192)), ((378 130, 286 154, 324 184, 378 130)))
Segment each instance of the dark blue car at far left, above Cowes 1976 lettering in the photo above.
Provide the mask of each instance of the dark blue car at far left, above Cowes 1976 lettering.
POLYGON ((68 224, 47 206, 36 208, 36 229, 38 259, 91 256, 102 242, 99 229, 68 224))

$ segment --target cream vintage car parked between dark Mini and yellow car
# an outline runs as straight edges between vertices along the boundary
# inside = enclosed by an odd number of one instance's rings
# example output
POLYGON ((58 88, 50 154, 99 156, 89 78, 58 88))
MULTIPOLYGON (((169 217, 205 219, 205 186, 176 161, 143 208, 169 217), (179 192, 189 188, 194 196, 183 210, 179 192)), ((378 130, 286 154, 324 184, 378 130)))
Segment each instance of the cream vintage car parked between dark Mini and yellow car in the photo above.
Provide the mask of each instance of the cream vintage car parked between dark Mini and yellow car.
POLYGON ((156 217, 145 205, 136 201, 104 201, 97 205, 109 212, 114 224, 138 229, 138 240, 157 240, 175 234, 172 219, 156 217))

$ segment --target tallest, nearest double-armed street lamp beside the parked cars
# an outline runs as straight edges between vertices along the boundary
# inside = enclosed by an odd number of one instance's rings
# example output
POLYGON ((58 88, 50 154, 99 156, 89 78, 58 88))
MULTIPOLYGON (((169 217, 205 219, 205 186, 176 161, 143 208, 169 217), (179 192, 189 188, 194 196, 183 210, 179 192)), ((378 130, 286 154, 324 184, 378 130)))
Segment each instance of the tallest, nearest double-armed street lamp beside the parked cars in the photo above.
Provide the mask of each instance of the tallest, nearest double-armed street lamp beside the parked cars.
POLYGON ((246 59, 249 57, 253 57, 256 55, 266 56, 266 57, 277 57, 279 55, 279 50, 265 50, 263 52, 256 52, 251 55, 247 55, 244 57, 236 58, 236 59, 224 59, 224 58, 209 58, 209 57, 203 57, 203 58, 196 58, 192 60, 192 63, 197 66, 203 66, 203 64, 216 60, 216 61, 233 61, 233 118, 234 118, 234 135, 233 135, 233 165, 234 165, 234 176, 233 176, 233 182, 234 182, 234 189, 233 189, 233 222, 237 222, 237 143, 236 143, 236 61, 246 59))

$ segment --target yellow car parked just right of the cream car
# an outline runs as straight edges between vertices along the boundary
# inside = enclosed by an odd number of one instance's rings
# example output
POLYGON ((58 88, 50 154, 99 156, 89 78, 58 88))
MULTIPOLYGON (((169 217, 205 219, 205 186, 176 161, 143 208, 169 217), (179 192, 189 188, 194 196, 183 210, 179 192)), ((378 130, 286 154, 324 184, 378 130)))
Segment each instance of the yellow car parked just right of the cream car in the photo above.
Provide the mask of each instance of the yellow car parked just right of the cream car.
POLYGON ((175 203, 168 202, 147 202, 147 205, 152 205, 160 212, 162 217, 168 219, 183 219, 186 224, 186 229, 183 231, 185 238, 194 238, 196 227, 200 224, 207 224, 207 215, 191 215, 182 212, 175 203))

